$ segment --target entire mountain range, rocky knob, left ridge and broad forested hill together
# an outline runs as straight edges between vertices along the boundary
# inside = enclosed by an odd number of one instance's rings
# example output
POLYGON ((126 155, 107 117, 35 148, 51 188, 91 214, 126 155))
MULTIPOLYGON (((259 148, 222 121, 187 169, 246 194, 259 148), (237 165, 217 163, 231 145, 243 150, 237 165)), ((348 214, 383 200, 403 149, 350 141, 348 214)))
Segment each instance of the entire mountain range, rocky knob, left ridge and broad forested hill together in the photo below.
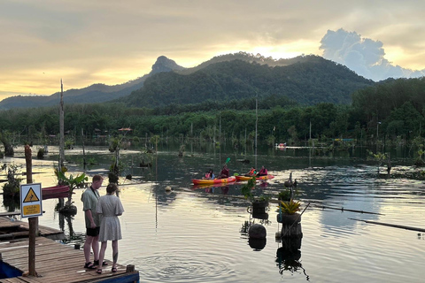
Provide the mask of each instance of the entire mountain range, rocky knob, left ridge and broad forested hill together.
MULTIPOLYGON (((156 107, 173 103, 228 101, 247 97, 285 97, 300 104, 351 103, 351 94, 373 85, 349 70, 318 56, 275 60, 246 52, 226 54, 193 68, 184 68, 160 56, 151 73, 126 83, 94 84, 64 92, 65 103, 125 102, 128 106, 156 107)), ((51 96, 12 96, 0 110, 57 105, 51 96)))

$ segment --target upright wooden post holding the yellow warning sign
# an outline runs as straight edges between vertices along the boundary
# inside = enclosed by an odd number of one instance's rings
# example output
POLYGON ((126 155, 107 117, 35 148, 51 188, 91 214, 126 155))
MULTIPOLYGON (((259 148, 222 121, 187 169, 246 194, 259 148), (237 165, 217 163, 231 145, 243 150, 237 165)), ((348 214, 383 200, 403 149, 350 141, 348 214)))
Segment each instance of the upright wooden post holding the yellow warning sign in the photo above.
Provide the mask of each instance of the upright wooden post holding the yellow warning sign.
MULTIPOLYGON (((29 145, 25 146, 25 161, 27 164, 27 184, 33 182, 33 166, 31 157, 31 148, 29 145)), ((28 274, 37 276, 35 272, 35 237, 38 232, 38 218, 28 218, 29 223, 29 246, 28 246, 28 274)))

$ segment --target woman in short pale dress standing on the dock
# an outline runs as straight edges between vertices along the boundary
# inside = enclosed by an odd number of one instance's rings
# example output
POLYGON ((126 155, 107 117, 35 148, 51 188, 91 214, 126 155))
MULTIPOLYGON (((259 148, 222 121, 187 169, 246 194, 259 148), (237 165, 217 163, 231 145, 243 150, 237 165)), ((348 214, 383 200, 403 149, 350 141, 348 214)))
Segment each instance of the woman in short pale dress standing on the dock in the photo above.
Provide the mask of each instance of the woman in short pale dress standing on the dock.
MULTIPOLYGON (((118 261, 118 240, 122 239, 120 219, 118 218, 124 208, 120 198, 115 195, 118 190, 117 185, 111 183, 106 187, 106 195, 99 198, 97 203, 97 213, 102 214, 100 223, 99 241, 102 243, 99 253, 99 263, 104 261, 104 251, 108 245, 107 241, 112 241, 112 272, 117 272, 118 261)), ((97 273, 102 274, 102 266, 99 265, 97 273)))

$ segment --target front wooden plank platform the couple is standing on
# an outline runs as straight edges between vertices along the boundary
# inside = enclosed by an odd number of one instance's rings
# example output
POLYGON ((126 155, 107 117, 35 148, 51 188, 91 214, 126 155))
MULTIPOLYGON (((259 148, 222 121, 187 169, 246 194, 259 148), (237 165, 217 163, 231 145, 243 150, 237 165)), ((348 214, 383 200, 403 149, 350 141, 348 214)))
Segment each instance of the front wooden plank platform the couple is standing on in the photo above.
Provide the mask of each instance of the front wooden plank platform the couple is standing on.
MULTIPOLYGON (((28 240, 0 242, 4 263, 22 272, 28 270, 28 240)), ((35 271, 38 277, 0 279, 4 283, 71 283, 71 282, 138 282, 139 272, 127 272, 127 267, 118 264, 118 272, 112 272, 112 262, 106 260, 102 274, 84 269, 84 252, 73 249, 44 237, 35 240, 35 271)))

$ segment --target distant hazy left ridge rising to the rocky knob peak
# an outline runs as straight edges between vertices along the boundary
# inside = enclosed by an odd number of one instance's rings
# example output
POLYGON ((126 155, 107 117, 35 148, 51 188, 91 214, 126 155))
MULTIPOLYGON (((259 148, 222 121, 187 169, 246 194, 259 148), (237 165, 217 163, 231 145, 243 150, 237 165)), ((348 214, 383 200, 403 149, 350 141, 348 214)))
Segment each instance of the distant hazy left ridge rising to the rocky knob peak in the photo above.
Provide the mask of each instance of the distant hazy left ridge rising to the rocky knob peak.
MULTIPOLYGON (((184 70, 184 67, 177 65, 174 60, 160 56, 155 64, 152 65, 151 73, 145 74, 143 77, 115 86, 97 83, 87 88, 69 89, 64 92, 64 103, 103 103, 111 101, 128 96, 132 91, 142 88, 144 80, 151 75, 182 70, 184 70)), ((59 92, 51 96, 11 96, 0 102, 0 110, 57 105, 59 97, 59 92)))

